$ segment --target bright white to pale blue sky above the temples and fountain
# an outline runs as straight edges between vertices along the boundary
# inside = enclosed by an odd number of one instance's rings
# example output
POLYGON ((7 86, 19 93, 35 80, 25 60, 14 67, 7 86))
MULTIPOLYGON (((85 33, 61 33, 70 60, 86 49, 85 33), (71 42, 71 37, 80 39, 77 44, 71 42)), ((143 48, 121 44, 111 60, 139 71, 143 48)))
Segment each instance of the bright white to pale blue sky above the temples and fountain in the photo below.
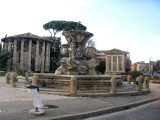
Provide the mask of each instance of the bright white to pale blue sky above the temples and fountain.
POLYGON ((52 20, 80 21, 98 50, 128 51, 132 63, 160 60, 160 0, 0 0, 0 39, 49 36, 52 20))

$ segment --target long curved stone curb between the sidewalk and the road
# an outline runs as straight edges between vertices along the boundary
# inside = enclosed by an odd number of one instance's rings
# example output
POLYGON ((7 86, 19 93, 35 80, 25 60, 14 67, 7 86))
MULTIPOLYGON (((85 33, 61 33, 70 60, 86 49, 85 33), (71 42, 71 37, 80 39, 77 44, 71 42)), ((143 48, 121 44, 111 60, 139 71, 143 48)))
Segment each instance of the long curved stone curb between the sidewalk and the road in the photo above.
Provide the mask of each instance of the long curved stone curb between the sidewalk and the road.
POLYGON ((98 115, 109 114, 109 113, 113 113, 113 112, 127 110, 130 108, 134 108, 134 107, 144 105, 144 104, 147 104, 150 102, 154 102, 157 100, 160 100, 160 97, 156 97, 156 98, 152 98, 152 99, 148 99, 148 100, 142 100, 142 101, 126 104, 126 105, 98 109, 98 110, 94 110, 94 111, 88 111, 88 112, 76 113, 76 114, 68 114, 68 115, 62 115, 62 116, 57 116, 57 117, 47 117, 47 118, 34 119, 34 120, 77 120, 77 119, 84 119, 84 118, 94 117, 94 116, 98 116, 98 115))

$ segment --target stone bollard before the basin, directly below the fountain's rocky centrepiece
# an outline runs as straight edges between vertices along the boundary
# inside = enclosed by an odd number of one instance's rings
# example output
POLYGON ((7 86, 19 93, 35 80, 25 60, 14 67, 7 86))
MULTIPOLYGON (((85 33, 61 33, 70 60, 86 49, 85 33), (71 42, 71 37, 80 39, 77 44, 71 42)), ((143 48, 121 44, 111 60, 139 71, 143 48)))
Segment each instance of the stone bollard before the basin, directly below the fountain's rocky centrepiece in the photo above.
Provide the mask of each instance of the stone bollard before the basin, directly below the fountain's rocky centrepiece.
POLYGON ((72 95, 76 95, 77 94, 77 78, 75 76, 71 77, 70 84, 71 84, 71 86, 70 86, 70 93, 72 95))

